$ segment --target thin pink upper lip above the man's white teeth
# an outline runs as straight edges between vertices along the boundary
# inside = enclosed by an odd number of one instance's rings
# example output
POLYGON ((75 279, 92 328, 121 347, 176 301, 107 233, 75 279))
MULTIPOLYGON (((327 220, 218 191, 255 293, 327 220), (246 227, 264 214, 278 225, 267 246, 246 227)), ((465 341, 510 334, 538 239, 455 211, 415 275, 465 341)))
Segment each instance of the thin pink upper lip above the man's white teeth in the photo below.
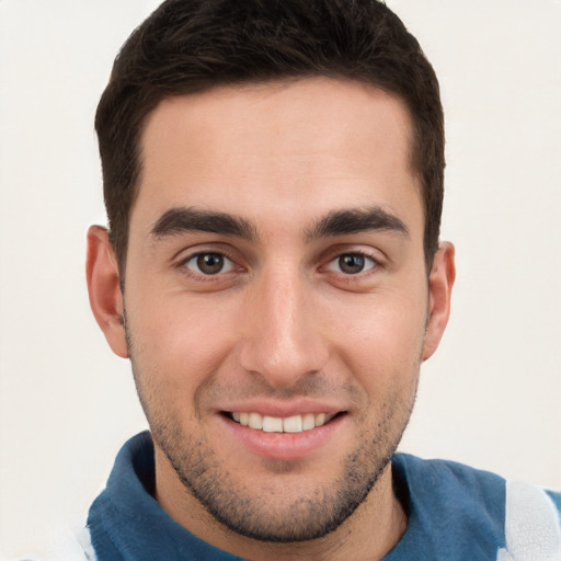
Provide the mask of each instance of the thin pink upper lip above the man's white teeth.
POLYGON ((294 415, 305 415, 307 413, 328 413, 334 415, 345 411, 345 408, 311 399, 297 399, 289 401, 250 399, 228 403, 226 407, 220 408, 219 411, 227 413, 259 413, 263 416, 288 417, 294 415))

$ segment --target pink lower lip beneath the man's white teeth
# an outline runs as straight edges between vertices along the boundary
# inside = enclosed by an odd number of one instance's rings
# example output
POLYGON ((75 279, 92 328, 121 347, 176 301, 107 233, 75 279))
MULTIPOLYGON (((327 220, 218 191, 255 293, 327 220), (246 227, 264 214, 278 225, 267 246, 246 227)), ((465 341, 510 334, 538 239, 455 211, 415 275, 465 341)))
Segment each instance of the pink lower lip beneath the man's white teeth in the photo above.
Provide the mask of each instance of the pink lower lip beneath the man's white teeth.
POLYGON ((265 433, 241 425, 226 416, 221 416, 221 419, 228 430, 227 434, 251 453, 263 458, 297 460, 305 458, 334 438, 345 416, 337 415, 322 426, 301 433, 265 433))

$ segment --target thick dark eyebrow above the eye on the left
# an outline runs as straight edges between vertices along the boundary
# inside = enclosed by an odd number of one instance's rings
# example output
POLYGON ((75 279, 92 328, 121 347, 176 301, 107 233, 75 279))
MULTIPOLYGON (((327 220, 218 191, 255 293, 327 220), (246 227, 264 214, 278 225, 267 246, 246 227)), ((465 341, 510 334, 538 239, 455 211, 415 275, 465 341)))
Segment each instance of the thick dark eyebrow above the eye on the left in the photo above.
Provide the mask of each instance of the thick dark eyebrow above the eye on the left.
POLYGON ((191 207, 170 208, 157 220, 150 233, 154 238, 164 238, 192 231, 237 236, 249 241, 257 239, 255 228, 243 218, 191 207))

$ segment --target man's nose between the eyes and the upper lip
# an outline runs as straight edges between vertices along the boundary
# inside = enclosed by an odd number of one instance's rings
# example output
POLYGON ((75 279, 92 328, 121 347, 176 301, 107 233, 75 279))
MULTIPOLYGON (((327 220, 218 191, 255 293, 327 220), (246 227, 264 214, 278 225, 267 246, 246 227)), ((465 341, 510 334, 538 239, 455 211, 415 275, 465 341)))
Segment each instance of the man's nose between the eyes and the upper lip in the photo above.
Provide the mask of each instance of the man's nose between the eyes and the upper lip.
POLYGON ((272 387, 321 371, 329 357, 312 282, 288 270, 263 275, 248 293, 239 342, 241 367, 272 387))

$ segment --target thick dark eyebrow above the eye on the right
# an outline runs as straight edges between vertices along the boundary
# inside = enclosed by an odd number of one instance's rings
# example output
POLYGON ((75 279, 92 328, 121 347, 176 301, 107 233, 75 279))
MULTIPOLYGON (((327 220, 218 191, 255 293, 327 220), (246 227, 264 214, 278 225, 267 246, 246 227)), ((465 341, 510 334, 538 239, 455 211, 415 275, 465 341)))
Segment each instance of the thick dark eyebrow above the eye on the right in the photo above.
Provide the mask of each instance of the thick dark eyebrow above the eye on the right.
POLYGON ((306 231, 308 240, 381 230, 409 237, 409 228, 397 216, 379 206, 359 209, 333 210, 306 231))

